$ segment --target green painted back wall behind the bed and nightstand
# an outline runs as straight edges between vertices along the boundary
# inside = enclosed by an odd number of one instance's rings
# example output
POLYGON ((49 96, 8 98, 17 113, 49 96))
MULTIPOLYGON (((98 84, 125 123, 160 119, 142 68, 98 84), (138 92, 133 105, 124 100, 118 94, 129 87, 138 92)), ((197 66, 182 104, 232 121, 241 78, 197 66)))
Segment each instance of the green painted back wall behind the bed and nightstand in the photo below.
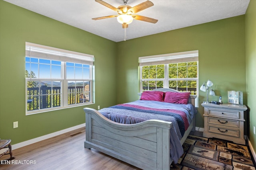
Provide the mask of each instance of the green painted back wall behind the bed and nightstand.
MULTIPOLYGON (((129 35, 127 35, 129 36, 129 35)), ((138 99, 138 57, 199 50, 199 84, 210 79, 216 95, 227 102, 228 90, 246 92, 244 15, 213 21, 118 43, 117 102, 138 99), (128 93, 125 91, 128 90, 128 93)), ((206 92, 199 92, 196 126, 203 127, 206 92)), ((246 104, 244 96, 244 104, 246 104)))

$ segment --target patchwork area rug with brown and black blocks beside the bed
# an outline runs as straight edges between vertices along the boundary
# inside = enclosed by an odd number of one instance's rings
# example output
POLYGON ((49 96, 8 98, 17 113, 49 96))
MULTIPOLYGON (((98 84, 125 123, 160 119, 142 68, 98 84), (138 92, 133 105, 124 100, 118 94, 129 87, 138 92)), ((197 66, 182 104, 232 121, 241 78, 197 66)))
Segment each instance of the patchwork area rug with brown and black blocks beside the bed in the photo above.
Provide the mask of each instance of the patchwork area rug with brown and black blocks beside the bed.
POLYGON ((183 144, 184 154, 171 170, 255 170, 248 146, 189 135, 183 144))

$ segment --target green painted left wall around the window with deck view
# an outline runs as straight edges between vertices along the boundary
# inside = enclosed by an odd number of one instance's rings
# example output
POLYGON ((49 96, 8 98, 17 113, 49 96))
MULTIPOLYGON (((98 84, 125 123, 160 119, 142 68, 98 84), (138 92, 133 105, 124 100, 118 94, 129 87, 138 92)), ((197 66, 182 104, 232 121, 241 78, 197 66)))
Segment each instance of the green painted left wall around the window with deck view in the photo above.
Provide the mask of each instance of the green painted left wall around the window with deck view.
POLYGON ((0 0, 0 138, 16 144, 85 123, 85 106, 25 115, 26 41, 94 55, 96 101, 88 107, 116 104, 116 42, 0 0))

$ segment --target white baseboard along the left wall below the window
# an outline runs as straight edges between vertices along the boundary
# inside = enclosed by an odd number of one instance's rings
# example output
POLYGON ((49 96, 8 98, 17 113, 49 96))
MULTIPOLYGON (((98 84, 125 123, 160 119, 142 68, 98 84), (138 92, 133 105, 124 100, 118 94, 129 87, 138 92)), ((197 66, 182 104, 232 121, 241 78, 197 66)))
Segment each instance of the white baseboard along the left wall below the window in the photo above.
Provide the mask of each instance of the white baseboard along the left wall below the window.
POLYGON ((36 142, 45 140, 45 139, 49 139, 51 137, 55 137, 55 136, 61 135, 63 133, 67 133, 67 132, 79 129, 81 127, 85 127, 85 123, 83 123, 81 125, 76 125, 76 126, 73 126, 73 127, 67 128, 67 129, 63 129, 61 131, 50 133, 50 134, 47 134, 47 135, 44 135, 44 136, 40 136, 40 137, 37 137, 37 138, 34 138, 34 139, 30 139, 28 141, 24 141, 24 142, 21 142, 21 143, 16 143, 16 144, 12 145, 12 150, 18 149, 18 148, 21 148, 21 147, 30 145, 32 143, 36 143, 36 142))

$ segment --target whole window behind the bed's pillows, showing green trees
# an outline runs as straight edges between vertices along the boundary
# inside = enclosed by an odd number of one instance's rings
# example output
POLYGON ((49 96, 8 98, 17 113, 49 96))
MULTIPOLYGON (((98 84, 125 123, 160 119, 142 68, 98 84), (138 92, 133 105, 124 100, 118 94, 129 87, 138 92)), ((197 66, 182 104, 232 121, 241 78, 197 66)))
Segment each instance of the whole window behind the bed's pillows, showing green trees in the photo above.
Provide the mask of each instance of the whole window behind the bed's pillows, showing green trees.
POLYGON ((139 58, 140 92, 172 88, 198 93, 198 51, 139 58))

